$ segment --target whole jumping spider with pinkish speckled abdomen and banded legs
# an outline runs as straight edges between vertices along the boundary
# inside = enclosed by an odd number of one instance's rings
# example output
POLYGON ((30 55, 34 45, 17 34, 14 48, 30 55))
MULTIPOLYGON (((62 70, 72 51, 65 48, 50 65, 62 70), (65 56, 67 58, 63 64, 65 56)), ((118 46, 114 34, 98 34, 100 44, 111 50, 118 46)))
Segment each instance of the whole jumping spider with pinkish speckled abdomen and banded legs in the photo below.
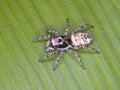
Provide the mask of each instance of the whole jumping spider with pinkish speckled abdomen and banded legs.
POLYGON ((86 30, 93 28, 94 26, 85 24, 83 26, 79 26, 74 29, 71 36, 68 36, 68 32, 70 29, 69 25, 69 19, 66 19, 66 29, 64 31, 64 35, 60 35, 57 30, 50 29, 47 31, 46 35, 39 36, 33 40, 33 42, 37 42, 42 39, 48 39, 46 43, 46 51, 48 52, 47 55, 45 55, 42 59, 39 61, 44 61, 48 57, 55 55, 56 53, 59 53, 59 56, 57 57, 56 61, 53 64, 53 71, 55 71, 56 66, 58 65, 59 61, 61 60, 63 54, 65 51, 73 54, 77 61, 79 62, 80 66, 85 69, 83 66, 81 59, 78 55, 78 53, 75 51, 76 49, 85 48, 88 50, 91 50, 93 52, 97 52, 94 48, 87 47, 88 44, 90 44, 93 41, 92 35, 88 33, 80 33, 81 30, 86 30))

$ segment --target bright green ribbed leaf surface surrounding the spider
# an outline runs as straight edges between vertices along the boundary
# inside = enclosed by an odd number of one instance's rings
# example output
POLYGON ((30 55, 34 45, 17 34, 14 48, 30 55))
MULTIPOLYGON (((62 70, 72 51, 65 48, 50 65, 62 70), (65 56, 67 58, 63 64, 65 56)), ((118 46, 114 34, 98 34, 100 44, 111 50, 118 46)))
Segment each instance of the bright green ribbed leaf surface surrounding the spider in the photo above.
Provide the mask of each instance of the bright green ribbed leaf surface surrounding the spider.
POLYGON ((0 90, 119 90, 120 0, 1 0, 0 90), (86 23, 94 36, 90 47, 78 51, 85 70, 73 55, 65 53, 56 71, 57 55, 45 55, 46 41, 33 43, 48 29, 63 34, 66 18, 70 33, 86 23))

